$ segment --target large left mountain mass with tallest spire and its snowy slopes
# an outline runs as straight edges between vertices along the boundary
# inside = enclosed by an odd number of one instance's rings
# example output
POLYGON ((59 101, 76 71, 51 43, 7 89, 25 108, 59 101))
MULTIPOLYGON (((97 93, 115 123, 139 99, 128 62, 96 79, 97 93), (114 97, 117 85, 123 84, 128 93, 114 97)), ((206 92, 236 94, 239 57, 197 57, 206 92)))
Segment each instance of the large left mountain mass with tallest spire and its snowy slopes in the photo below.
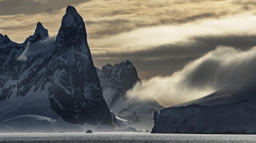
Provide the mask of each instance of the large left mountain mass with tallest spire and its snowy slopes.
POLYGON ((15 57, 25 60, 24 70, 8 79, 17 80, 17 95, 0 95, 0 121, 31 114, 80 125, 118 127, 103 98, 84 21, 74 7, 67 7, 56 39, 49 38, 39 22, 21 47, 25 49, 15 57))

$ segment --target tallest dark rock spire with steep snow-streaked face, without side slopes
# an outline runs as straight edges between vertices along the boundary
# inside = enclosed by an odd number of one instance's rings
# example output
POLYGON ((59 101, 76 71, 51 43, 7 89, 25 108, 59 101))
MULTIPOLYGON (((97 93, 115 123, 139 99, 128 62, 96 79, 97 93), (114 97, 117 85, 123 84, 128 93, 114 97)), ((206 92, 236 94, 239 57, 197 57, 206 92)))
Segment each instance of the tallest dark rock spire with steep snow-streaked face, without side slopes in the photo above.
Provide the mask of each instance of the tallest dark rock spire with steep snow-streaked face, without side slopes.
POLYGON ((82 17, 67 7, 46 70, 51 108, 64 120, 74 123, 112 124, 111 112, 93 65, 82 17))

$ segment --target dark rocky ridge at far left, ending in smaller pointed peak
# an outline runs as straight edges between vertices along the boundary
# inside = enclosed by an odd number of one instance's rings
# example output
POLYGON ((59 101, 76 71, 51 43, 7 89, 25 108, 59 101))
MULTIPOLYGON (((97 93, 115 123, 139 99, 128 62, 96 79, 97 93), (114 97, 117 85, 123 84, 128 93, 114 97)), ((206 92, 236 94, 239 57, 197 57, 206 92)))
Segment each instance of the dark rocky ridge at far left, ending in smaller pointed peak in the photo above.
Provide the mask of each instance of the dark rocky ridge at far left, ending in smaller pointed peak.
POLYGON ((29 36, 23 43, 15 43, 7 35, 0 34, 0 87, 8 80, 18 80, 26 69, 24 60, 17 60, 29 43, 36 43, 48 38, 48 31, 38 22, 34 35, 29 36))

